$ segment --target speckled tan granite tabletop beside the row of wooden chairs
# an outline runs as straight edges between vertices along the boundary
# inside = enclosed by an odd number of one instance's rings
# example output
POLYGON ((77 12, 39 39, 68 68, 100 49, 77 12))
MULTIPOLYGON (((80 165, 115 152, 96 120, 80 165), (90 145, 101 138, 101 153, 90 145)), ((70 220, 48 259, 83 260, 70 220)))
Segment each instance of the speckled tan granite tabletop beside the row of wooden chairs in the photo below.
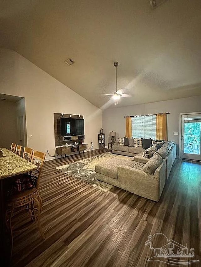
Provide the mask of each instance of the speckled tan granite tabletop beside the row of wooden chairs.
MULTIPOLYGON (((5 150, 5 153, 8 153, 8 151, 5 150)), ((11 153, 12 155, 8 155, 9 154, 8 153, 7 156, 5 155, 0 158, 0 179, 23 174, 35 170, 37 168, 35 164, 32 164, 29 161, 24 160, 23 158, 14 154, 13 152, 11 153)))

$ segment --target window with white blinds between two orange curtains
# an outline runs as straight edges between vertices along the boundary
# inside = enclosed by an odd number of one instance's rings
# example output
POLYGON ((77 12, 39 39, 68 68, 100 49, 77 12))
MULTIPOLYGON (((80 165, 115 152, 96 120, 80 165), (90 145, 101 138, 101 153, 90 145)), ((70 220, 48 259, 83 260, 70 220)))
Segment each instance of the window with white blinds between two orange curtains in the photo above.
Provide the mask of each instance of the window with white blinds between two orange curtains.
POLYGON ((133 138, 156 139, 156 115, 131 118, 133 138))

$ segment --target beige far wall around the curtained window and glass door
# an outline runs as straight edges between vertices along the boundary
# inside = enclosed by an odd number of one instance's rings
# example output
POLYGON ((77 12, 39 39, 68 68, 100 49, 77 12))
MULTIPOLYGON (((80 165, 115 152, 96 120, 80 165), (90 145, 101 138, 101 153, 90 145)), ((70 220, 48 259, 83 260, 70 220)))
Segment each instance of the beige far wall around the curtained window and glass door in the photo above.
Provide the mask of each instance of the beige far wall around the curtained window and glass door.
POLYGON ((179 113, 201 112, 201 96, 106 109, 102 111, 102 128, 105 130, 106 140, 109 131, 116 131, 121 137, 125 136, 124 116, 161 112, 171 113, 167 115, 168 139, 179 144, 179 135, 173 135, 174 132, 179 133, 179 113))

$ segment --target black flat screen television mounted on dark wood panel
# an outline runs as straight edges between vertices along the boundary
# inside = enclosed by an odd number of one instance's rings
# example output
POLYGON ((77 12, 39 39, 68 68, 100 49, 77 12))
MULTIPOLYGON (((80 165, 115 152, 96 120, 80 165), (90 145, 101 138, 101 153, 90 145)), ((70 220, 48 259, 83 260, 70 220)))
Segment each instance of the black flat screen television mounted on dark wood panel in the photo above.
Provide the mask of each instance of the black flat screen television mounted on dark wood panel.
POLYGON ((84 119, 61 118, 61 135, 84 134, 84 119))

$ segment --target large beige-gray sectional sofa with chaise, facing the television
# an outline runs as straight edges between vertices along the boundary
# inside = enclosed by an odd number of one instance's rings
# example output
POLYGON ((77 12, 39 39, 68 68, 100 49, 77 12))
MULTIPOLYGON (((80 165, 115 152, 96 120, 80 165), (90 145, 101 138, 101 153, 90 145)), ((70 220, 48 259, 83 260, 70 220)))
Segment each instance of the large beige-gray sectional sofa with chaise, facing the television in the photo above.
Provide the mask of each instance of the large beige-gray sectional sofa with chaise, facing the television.
MULTIPOLYGON (((122 145, 119 147, 121 148, 115 147, 114 153, 123 152, 126 153, 124 155, 130 153, 135 156, 131 160, 114 158, 97 164, 96 179, 158 202, 176 159, 177 145, 172 142, 171 145, 168 142, 164 143, 150 159, 142 156, 145 149, 138 148, 137 154, 125 148, 124 151, 117 150, 122 149, 122 145)), ((134 148, 133 151, 137 152, 134 148)))

